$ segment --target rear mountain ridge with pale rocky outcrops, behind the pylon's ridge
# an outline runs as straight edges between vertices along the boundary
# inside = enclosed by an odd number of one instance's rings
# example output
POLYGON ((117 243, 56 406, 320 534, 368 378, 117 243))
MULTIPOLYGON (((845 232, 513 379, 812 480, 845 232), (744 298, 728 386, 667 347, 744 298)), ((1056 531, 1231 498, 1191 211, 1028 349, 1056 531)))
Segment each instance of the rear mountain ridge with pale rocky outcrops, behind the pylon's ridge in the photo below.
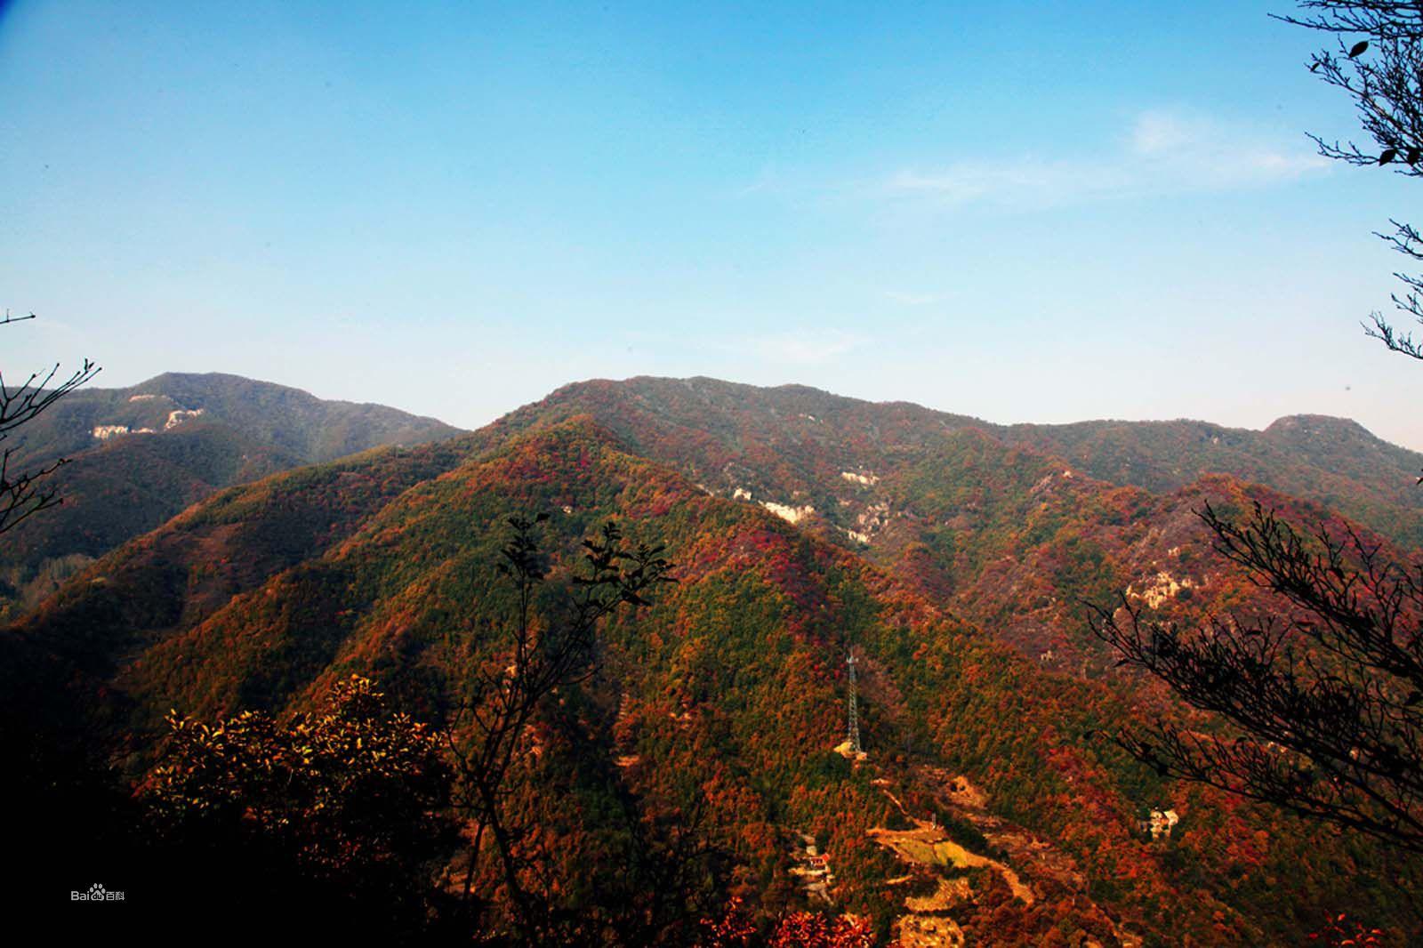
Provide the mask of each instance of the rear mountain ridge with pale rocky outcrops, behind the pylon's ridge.
POLYGON ((1116 665, 1090 635, 1083 599, 1126 592, 1155 608, 1190 601, 1187 611, 1204 615, 1257 596, 1211 555, 1197 517, 1205 504, 1259 501, 1309 528, 1396 537, 1419 501, 1379 498, 1412 485, 1409 465, 1423 461, 1335 418, 1285 418, 1268 433, 1195 421, 1003 428, 906 403, 710 379, 578 383, 492 427, 536 430, 582 413, 706 490, 857 551, 1043 668, 1079 675, 1116 665), (1372 453, 1342 460, 1356 446, 1372 453), (1325 463, 1339 471, 1313 467, 1325 463), (1311 471, 1342 484, 1372 524, 1292 495, 1285 485, 1311 471), (1123 480, 1104 477, 1113 473, 1123 480))

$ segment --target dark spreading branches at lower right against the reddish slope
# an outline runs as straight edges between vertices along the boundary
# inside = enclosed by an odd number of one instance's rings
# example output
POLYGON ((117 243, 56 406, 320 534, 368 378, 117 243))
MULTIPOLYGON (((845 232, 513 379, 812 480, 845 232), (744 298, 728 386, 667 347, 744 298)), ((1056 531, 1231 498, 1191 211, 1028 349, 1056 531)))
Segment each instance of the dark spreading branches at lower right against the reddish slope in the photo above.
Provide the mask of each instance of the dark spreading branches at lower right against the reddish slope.
POLYGON ((1423 565, 1352 530, 1303 535, 1255 504, 1200 512, 1215 548, 1279 596, 1262 616, 1183 626, 1123 596, 1093 631, 1234 727, 1171 722, 1120 743, 1163 776, 1207 783, 1423 851, 1423 565))

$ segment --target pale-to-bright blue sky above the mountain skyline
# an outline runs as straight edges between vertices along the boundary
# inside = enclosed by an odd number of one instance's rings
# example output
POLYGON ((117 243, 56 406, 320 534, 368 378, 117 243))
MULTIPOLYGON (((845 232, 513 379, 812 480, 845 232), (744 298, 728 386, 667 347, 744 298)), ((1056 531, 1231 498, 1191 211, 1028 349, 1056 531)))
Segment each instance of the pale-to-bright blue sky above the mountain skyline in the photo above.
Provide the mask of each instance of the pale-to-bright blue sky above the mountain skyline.
POLYGON ((0 3, 0 306, 41 316, 0 367, 465 427, 709 374, 1423 448, 1423 366, 1359 329, 1419 185, 1313 155, 1355 124, 1286 0, 1161 6, 0 3))

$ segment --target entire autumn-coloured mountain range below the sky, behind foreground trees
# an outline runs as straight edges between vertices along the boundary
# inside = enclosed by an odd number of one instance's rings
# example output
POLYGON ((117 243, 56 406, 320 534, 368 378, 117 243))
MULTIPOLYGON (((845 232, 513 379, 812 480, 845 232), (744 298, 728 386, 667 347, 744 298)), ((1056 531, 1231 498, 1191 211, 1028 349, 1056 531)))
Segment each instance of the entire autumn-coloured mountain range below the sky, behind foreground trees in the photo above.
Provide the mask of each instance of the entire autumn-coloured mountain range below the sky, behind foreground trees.
MULTIPOLYGON (((630 858, 628 811, 699 801, 726 895, 771 914, 828 902, 905 944, 1292 944, 1345 908, 1400 944, 1423 937, 1400 895, 1416 861, 1117 747, 1116 729, 1158 715, 1217 723, 1120 673, 1081 609, 1117 595, 1187 621, 1269 608, 1211 549, 1207 502, 1412 555, 1423 455, 1352 421, 1002 427, 798 386, 632 379, 455 434, 203 379, 55 409, 57 430, 132 431, 201 407, 231 433, 191 441, 181 470, 201 497, 85 548, 97 559, 0 639, 7 689, 91 703, 128 736, 135 780, 169 709, 299 713, 350 672, 440 720, 501 653, 508 517, 549 515, 555 579, 613 518, 665 544, 677 582, 603 626, 598 672, 536 723, 515 807, 546 827, 555 877, 630 858), (403 446, 337 457, 380 441, 403 446), (864 759, 835 749, 851 649, 864 759), (1178 821, 1151 833, 1167 810, 1178 821), (811 846, 832 883, 807 881, 824 880, 811 846)), ((110 460, 122 446, 196 434, 202 417, 90 448, 92 490, 132 477, 138 461, 110 460)), ((558 891, 569 911, 619 898, 558 891)))

